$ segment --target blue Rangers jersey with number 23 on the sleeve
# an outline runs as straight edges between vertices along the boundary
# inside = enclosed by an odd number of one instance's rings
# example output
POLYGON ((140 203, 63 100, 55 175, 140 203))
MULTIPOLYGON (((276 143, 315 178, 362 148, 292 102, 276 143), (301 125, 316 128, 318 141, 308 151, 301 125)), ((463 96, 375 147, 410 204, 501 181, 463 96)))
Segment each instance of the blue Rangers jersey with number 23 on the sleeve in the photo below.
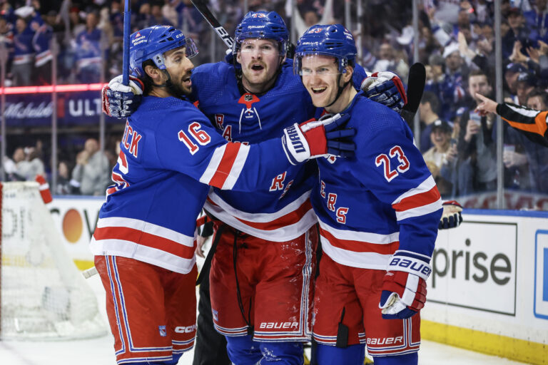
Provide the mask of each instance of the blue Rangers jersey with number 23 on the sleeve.
POLYGON ((317 158, 311 200, 323 251, 351 267, 386 269, 396 250, 430 261, 442 200, 400 115, 361 93, 347 110, 355 158, 317 158))

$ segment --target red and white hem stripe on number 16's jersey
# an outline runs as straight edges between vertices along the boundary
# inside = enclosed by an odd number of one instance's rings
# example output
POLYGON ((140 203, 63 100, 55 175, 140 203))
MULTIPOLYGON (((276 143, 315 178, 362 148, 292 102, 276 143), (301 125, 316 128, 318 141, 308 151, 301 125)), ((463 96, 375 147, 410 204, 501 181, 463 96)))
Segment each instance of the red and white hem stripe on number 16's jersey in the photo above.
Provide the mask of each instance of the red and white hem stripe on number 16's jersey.
POLYGON ((90 249, 93 255, 128 257, 181 274, 196 263, 195 237, 126 217, 100 218, 90 249))

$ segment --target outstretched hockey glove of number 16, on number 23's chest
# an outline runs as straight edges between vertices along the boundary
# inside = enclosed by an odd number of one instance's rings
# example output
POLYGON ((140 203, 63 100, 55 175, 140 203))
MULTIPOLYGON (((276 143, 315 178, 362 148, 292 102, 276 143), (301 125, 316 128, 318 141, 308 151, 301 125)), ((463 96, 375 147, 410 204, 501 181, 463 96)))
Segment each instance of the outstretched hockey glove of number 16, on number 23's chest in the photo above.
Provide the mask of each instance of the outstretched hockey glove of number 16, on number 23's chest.
POLYGON ((295 123, 283 130, 282 145, 292 165, 309 158, 335 155, 351 158, 356 145, 352 141, 355 130, 345 128, 349 114, 335 114, 320 120, 310 119, 298 125, 295 123))

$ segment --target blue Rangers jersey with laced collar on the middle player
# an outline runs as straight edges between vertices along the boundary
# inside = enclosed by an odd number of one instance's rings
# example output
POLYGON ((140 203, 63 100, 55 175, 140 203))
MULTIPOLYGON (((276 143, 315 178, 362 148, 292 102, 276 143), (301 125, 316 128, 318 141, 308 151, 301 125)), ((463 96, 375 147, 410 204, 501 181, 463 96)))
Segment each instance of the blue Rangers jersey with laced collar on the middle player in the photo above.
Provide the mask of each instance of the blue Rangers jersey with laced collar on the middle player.
MULTIPOLYGON (((359 67, 359 66, 358 66, 359 67)), ((359 67, 355 85, 360 87, 365 71, 359 67)), ((192 74, 193 96, 198 107, 226 140, 258 143, 314 116, 315 107, 300 76, 293 74, 288 59, 275 84, 261 95, 240 93, 234 66, 206 63, 192 74)), ((228 225, 263 240, 283 242, 302 235, 316 222, 310 190, 315 181, 314 164, 279 170, 268 184, 253 192, 213 189, 205 209, 228 225), (310 171, 312 170, 312 171, 310 171)))

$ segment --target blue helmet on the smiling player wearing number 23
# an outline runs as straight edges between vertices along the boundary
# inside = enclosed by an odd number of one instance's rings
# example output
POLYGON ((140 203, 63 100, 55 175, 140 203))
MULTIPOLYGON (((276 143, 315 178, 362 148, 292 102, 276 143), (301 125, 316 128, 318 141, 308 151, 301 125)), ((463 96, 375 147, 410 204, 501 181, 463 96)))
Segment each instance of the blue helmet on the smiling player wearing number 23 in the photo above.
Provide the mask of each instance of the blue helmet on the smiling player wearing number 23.
POLYGON ((346 72, 348 61, 356 58, 354 37, 342 24, 311 26, 299 38, 295 48, 293 70, 300 73, 303 56, 318 54, 337 58, 339 71, 346 72))

